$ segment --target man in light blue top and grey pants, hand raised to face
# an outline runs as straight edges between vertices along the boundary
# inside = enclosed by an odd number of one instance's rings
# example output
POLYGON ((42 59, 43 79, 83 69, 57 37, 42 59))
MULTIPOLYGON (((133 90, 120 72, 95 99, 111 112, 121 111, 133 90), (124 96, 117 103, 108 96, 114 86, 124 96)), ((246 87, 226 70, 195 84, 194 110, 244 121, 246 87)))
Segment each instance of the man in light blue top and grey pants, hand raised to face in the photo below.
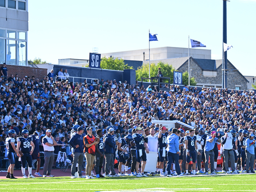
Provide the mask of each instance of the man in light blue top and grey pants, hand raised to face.
POLYGON ((216 174, 214 172, 214 145, 215 141, 217 141, 218 138, 216 138, 216 132, 212 131, 211 135, 207 136, 206 143, 204 146, 204 154, 205 154, 205 174, 208 175, 208 164, 209 164, 209 156, 210 156, 210 165, 211 165, 211 174, 216 174))

